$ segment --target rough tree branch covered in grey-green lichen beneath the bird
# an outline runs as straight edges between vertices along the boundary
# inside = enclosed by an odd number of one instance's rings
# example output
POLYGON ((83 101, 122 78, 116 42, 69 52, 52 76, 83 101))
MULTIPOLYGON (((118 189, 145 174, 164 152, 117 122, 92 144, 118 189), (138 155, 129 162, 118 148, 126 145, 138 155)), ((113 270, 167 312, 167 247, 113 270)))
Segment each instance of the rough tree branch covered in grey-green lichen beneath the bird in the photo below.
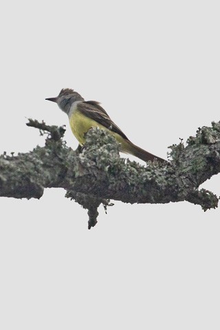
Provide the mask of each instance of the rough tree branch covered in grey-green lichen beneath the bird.
POLYGON ((124 203, 189 201, 203 210, 217 208, 218 198, 199 186, 220 171, 220 122, 203 126, 195 137, 170 146, 170 162, 142 166, 119 155, 119 144, 106 131, 91 129, 82 150, 63 141, 63 126, 29 120, 47 133, 45 146, 29 153, 0 156, 0 196, 41 198, 44 188, 64 188, 66 197, 88 210, 89 229, 96 225, 98 206, 110 199, 124 203))

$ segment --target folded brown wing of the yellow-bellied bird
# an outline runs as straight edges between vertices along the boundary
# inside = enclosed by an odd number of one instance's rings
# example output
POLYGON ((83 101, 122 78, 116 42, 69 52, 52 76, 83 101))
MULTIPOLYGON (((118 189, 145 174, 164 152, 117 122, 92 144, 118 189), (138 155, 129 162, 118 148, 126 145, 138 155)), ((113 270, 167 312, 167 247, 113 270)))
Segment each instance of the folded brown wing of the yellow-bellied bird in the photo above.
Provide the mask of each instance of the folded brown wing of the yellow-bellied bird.
POLYGON ((111 120, 107 112, 100 106, 99 102, 96 101, 85 101, 77 104, 78 109, 87 117, 95 120, 102 126, 106 127, 110 131, 118 133, 124 139, 129 140, 126 135, 115 125, 111 120))

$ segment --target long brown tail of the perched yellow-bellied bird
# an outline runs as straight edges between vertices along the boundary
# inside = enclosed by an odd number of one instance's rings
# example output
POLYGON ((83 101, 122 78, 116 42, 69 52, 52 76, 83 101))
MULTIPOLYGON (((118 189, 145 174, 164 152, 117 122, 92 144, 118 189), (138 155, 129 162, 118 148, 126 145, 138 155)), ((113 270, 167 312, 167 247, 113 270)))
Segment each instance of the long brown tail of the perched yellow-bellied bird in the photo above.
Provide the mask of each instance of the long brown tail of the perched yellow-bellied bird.
POLYGON ((144 160, 144 162, 148 162, 149 160, 151 160, 151 162, 153 162, 153 160, 157 160, 158 162, 167 162, 163 158, 157 157, 152 153, 148 153, 148 151, 140 148, 140 146, 136 146, 129 140, 127 140, 123 145, 122 152, 130 153, 131 155, 144 160))

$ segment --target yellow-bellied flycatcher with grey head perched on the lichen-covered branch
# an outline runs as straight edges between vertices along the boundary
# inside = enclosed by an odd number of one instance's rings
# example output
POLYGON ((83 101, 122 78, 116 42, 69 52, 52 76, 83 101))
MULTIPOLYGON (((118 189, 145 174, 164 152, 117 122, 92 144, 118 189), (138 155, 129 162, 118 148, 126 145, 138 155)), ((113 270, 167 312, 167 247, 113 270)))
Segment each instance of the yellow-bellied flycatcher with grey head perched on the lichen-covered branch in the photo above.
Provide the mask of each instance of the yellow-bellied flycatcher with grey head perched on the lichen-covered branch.
POLYGON ((144 162, 156 159, 159 162, 166 162, 164 159, 148 153, 139 146, 135 146, 126 135, 115 125, 107 112, 96 101, 85 101, 80 94, 73 89, 61 89, 56 98, 46 98, 46 100, 56 102, 62 111, 67 113, 72 132, 80 145, 85 144, 85 133, 91 127, 107 129, 120 143, 120 151, 138 157, 144 162))

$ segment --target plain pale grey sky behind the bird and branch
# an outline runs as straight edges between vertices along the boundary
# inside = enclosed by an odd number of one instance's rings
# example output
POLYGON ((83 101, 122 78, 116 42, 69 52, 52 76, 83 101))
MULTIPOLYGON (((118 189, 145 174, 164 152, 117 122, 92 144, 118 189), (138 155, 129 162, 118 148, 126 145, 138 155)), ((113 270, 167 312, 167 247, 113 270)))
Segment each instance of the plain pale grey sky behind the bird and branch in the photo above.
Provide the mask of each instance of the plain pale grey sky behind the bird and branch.
MULTIPOLYGON (((160 157, 220 119, 219 1, 21 0, 0 16, 1 153, 43 146, 25 118, 68 125, 45 101, 63 87, 160 157)), ((64 195, 0 199, 1 329, 219 329, 219 209, 115 202, 89 231, 64 195)))

